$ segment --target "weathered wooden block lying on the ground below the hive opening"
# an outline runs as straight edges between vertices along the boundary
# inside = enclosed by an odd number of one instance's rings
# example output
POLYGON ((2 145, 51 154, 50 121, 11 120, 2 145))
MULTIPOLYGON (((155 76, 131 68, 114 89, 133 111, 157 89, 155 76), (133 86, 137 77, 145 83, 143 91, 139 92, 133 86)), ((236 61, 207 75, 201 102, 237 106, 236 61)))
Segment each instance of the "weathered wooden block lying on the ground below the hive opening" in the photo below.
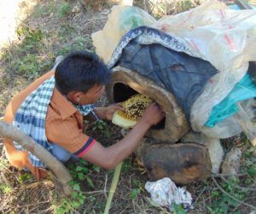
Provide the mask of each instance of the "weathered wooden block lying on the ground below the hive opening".
POLYGON ((185 185, 211 176, 207 147, 198 143, 154 143, 144 139, 137 148, 137 157, 153 181, 171 177, 173 182, 185 185))

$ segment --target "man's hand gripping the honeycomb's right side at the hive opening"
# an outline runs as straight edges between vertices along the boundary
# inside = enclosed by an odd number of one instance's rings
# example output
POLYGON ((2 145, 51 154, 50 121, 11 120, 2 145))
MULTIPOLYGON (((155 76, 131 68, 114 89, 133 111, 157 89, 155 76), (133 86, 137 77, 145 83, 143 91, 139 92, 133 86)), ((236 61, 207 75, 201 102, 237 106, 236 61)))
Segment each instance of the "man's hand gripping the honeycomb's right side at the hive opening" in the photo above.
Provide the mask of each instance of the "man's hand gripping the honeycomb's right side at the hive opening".
POLYGON ((164 111, 157 103, 153 102, 144 111, 141 122, 147 123, 148 125, 152 126, 154 124, 158 124, 160 120, 164 117, 164 111))

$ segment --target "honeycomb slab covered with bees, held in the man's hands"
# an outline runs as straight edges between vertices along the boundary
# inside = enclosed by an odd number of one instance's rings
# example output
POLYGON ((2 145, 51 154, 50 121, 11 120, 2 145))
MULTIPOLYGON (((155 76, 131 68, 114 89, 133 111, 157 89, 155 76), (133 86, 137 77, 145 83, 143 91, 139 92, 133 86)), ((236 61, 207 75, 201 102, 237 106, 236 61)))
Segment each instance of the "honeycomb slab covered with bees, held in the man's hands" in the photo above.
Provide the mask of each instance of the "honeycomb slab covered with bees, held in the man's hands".
POLYGON ((123 128, 133 127, 138 119, 143 116, 144 110, 152 102, 148 95, 132 95, 128 100, 124 101, 121 105, 125 111, 116 111, 113 114, 112 122, 123 128))

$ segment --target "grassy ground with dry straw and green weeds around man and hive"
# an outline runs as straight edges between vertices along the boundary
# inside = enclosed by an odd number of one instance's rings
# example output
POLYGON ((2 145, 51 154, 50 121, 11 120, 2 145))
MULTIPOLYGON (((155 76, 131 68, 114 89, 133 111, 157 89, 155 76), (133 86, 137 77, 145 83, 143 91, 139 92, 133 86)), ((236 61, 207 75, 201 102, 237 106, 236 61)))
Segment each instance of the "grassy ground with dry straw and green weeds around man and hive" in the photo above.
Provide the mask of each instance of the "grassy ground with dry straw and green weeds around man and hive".
MULTIPOLYGON (((90 38, 104 26, 105 20, 90 21, 108 7, 108 1, 80 1, 80 14, 72 12, 76 2, 64 0, 38 1, 27 19, 17 29, 18 40, 1 50, 0 117, 11 97, 25 88, 34 78, 48 72, 57 55, 70 50, 95 51, 90 38), (83 4, 84 3, 84 4, 83 4), (85 25, 86 24, 86 25, 85 25)), ((198 1, 194 1, 198 2, 198 1)), ((26 1, 22 4, 26 8, 26 1)), ((159 7, 163 7, 159 5, 159 7)), ((179 1, 176 11, 193 7, 191 1, 179 1)), ((154 11, 161 16, 163 9, 154 11)), ((170 10, 171 11, 171 10, 170 10)), ((106 15, 107 19, 107 15, 106 15)), ((108 146, 121 139, 120 130, 111 123, 99 122, 88 128, 88 135, 108 146)), ((225 152, 231 147, 242 151, 239 176, 213 176, 205 182, 188 185, 195 197, 195 209, 189 213, 248 213, 256 201, 256 149, 243 136, 223 141, 225 152), (231 196, 231 197, 230 197, 231 196), (234 199, 235 198, 235 199, 234 199)), ((52 178, 37 182, 30 172, 10 166, 0 142, 0 209, 3 213, 102 213, 113 171, 104 171, 84 161, 69 165, 73 175, 73 195, 62 199, 55 190, 52 178)), ((155 207, 144 188, 148 181, 145 169, 131 156, 125 159, 111 213, 170 213, 155 207)), ((183 213, 179 206, 175 213, 183 213)))

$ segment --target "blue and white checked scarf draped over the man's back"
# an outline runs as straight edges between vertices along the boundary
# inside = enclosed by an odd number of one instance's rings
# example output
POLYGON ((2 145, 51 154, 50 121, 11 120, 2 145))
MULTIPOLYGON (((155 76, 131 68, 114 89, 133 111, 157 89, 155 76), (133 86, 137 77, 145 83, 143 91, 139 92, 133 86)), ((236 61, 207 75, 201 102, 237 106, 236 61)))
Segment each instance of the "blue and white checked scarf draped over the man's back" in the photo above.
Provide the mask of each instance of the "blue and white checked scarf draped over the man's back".
MULTIPOLYGON (((37 90, 26 97, 20 108, 15 114, 13 124, 18 129, 32 137, 35 142, 52 153, 52 145, 48 142, 45 134, 45 119, 46 113, 55 88, 55 77, 48 78, 43 84, 40 84, 37 90)), ((92 112, 95 105, 75 106, 82 115, 87 115, 92 112)), ((17 142, 14 142, 18 150, 24 150, 17 142)), ((29 153, 29 158, 32 165, 45 168, 44 163, 32 153, 29 153)))

